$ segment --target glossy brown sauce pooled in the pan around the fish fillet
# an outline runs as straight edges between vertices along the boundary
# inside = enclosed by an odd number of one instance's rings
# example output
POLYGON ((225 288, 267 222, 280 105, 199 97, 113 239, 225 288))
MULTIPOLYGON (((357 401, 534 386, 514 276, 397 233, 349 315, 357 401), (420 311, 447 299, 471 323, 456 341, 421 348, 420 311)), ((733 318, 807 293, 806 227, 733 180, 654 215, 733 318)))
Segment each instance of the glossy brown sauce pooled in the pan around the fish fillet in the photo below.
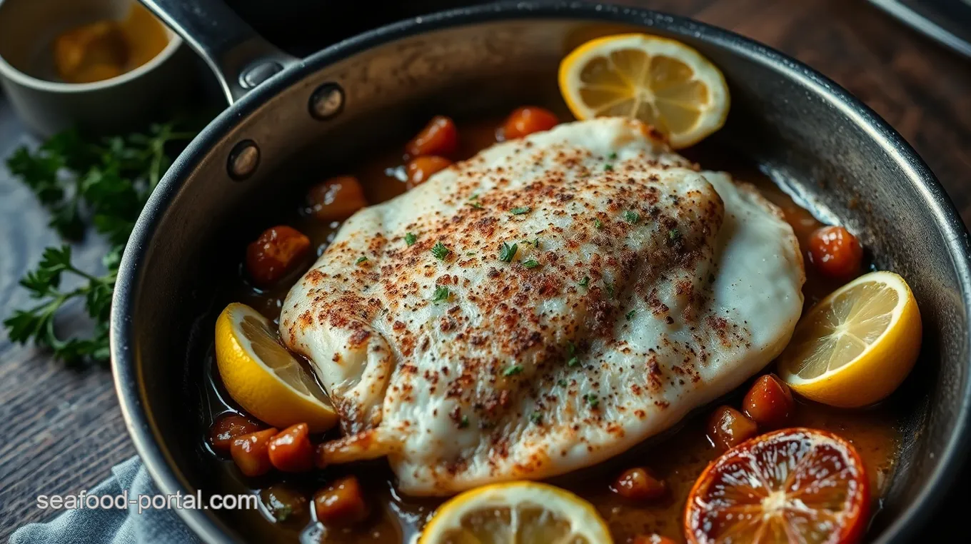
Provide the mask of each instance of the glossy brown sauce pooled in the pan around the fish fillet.
MULTIPOLYGON (((569 119, 567 115, 557 113, 560 114, 560 119, 569 119)), ((457 119, 462 142, 459 156, 471 156, 494 143, 495 127, 499 126, 501 121, 501 117, 465 122, 457 119)), ((732 162, 729 153, 720 154, 717 150, 707 148, 706 145, 702 150, 692 150, 686 154, 705 168, 726 170, 737 180, 750 182, 759 187, 769 200, 783 210, 800 244, 803 248, 807 247, 808 237, 821 225, 820 221, 817 221, 809 211, 799 207, 757 169, 732 162), (714 159, 712 155, 716 155, 714 159)), ((374 160, 367 161, 350 172, 361 181, 369 202, 381 202, 404 192, 405 184, 399 179, 400 172, 403 170, 401 153, 401 147, 396 147, 387 153, 377 155, 374 160)), ((347 173, 349 172, 326 173, 318 181, 322 181, 329 175, 347 173)), ((318 255, 340 226, 336 222, 321 224, 320 221, 299 211, 298 206, 294 207, 289 224, 311 238, 318 248, 318 255)), ((242 253, 241 249, 240 255, 242 253)), ((808 277, 804 287, 805 308, 809 308, 822 296, 839 286, 814 274, 808 259, 806 268, 808 277)), ((284 285, 280 288, 267 291, 252 289, 242 277, 236 278, 233 282, 227 282, 231 285, 224 293, 219 294, 221 298, 218 301, 220 303, 218 307, 234 301, 244 302, 267 317, 277 319, 286 291, 297 278, 298 275, 294 275, 288 283, 283 282, 284 285)), ((210 349, 210 355, 203 361, 203 406, 200 407, 203 417, 200 419, 202 426, 198 433, 201 437, 206 435, 208 425, 218 414, 237 410, 219 383, 212 353, 210 349)), ((771 365, 767 371, 770 369, 771 365)), ((748 386, 749 384, 744 385, 723 400, 737 405, 748 386)), ((592 502, 607 521, 618 543, 630 542, 638 534, 651 532, 668 536, 676 542, 684 542, 682 518, 687 493, 706 464, 718 458, 719 455, 705 436, 705 419, 710 411, 711 407, 702 408, 698 413, 687 418, 679 429, 669 431, 664 436, 654 437, 619 458, 571 473, 567 477, 553 479, 551 483, 578 493, 592 502), (658 444, 663 446, 658 447, 658 444), (619 472, 631 466, 651 468, 657 476, 667 482, 671 493, 665 499, 647 505, 632 504, 612 493, 608 483, 613 481, 619 472)), ((798 400, 793 425, 826 429, 854 444, 870 478, 874 497, 872 511, 878 512, 881 497, 887 490, 899 444, 899 415, 881 406, 865 410, 837 410, 798 400)), ((412 498, 396 493, 393 487, 393 474, 384 460, 328 467, 311 474, 284 476, 271 473, 260 478, 247 479, 235 469, 231 460, 218 459, 209 451, 204 439, 202 449, 206 450, 201 456, 206 463, 205 468, 213 475, 212 485, 216 486, 212 490, 207 490, 209 493, 260 493, 260 490, 271 485, 284 485, 310 498, 326 482, 346 474, 357 476, 365 489, 371 507, 370 515, 367 521, 352 529, 323 527, 315 523, 311 515, 306 512, 295 513, 284 522, 272 521, 273 518, 265 508, 258 514, 252 511, 224 513, 230 527, 257 541, 273 540, 307 544, 316 542, 350 544, 365 541, 376 544, 411 543, 420 528, 434 513, 437 505, 442 502, 441 499, 412 498)))

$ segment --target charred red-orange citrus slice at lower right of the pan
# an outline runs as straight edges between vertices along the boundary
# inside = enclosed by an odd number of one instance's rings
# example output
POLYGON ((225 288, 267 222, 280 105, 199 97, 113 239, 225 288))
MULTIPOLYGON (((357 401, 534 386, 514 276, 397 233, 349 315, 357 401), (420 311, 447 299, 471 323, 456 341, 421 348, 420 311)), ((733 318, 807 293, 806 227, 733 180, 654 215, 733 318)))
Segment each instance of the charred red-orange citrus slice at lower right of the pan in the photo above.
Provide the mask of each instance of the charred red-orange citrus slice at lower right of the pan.
POLYGON ((694 483, 690 544, 854 544, 870 497, 854 447, 829 432, 788 428, 725 452, 694 483))

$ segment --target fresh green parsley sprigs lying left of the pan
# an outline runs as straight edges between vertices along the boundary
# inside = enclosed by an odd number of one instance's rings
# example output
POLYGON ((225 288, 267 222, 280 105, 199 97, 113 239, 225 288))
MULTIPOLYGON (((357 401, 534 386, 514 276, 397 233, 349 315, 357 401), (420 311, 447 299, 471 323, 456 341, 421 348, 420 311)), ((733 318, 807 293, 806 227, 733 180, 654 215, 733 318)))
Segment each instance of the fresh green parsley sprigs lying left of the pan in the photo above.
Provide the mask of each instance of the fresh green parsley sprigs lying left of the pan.
POLYGON ((35 151, 20 148, 7 159, 11 173, 50 212, 50 228, 62 238, 81 240, 93 226, 110 244, 102 259, 103 276, 72 263, 70 246, 47 248, 37 267, 20 280, 38 302, 15 310, 3 322, 12 341, 33 342, 69 363, 108 359, 108 318, 121 252, 151 191, 171 165, 172 145, 195 136, 186 125, 184 120, 152 124, 146 132, 101 140, 72 129, 35 151), (61 289, 65 275, 80 279, 80 286, 61 289), (58 313, 79 299, 93 331, 84 337, 58 336, 58 313))

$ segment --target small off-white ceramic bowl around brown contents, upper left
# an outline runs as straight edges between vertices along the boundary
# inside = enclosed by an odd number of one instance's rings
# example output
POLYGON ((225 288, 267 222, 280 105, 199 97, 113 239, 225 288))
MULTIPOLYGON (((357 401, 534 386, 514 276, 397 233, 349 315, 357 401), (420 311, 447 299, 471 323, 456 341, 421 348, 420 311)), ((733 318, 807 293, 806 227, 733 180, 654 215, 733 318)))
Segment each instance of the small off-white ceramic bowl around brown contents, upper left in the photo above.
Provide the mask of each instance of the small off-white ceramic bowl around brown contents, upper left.
POLYGON ((168 45, 149 62, 89 84, 50 81, 51 43, 61 32, 123 18, 134 0, 0 0, 0 85, 17 115, 41 136, 69 126, 124 131, 157 119, 194 78, 192 55, 168 28, 168 45))

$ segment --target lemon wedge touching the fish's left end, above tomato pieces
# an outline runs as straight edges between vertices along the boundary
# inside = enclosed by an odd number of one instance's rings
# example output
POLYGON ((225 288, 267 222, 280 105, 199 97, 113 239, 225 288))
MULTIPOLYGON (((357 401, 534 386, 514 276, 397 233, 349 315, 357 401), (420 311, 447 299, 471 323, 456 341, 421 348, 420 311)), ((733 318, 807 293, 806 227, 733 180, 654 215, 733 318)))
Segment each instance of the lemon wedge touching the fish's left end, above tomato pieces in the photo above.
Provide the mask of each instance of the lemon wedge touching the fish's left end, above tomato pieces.
POLYGON ((216 362, 226 391, 259 420, 279 428, 306 423, 312 432, 337 423, 314 377, 277 340, 276 326, 246 304, 219 314, 216 362))

